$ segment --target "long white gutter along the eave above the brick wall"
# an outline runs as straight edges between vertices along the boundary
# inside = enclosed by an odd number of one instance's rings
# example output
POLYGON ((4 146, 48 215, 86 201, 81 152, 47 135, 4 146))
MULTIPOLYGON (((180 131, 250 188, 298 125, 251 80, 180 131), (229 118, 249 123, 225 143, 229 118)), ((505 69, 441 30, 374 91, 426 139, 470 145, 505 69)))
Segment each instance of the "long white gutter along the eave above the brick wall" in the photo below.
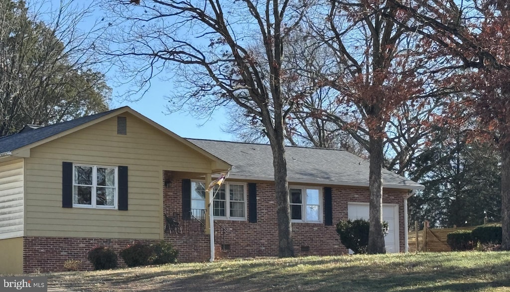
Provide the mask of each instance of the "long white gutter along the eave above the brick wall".
MULTIPOLYGON (((218 177, 218 176, 213 176, 218 177)), ((274 181, 273 177, 262 177, 262 176, 240 176, 240 175, 230 175, 231 179, 239 179, 239 180, 254 180, 254 181, 274 181)), ((368 182, 355 182, 355 181, 332 181, 332 180, 309 180, 309 179, 292 179, 289 178, 289 183, 313 183, 313 184, 322 184, 322 185, 343 185, 343 186, 364 186, 368 187, 368 182)), ((414 185, 405 185, 405 184, 382 184, 384 188, 400 188, 400 189, 425 189, 424 186, 419 184, 414 185)))

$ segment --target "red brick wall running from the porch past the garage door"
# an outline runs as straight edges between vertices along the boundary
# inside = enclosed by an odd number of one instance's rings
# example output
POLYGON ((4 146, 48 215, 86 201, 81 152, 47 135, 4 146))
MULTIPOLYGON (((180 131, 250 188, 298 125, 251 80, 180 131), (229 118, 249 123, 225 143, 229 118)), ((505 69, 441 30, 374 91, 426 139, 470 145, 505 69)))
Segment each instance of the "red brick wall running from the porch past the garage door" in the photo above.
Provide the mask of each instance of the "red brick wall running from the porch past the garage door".
MULTIPOLYGON (((165 176, 168 173, 165 172, 165 176)), ((255 257, 278 255, 278 226, 276 220, 276 200, 274 183, 257 182, 257 223, 248 221, 216 220, 228 231, 225 244, 230 245, 230 257, 255 257)), ((406 190, 385 190, 383 203, 398 204, 398 222, 400 252, 404 251, 404 206, 406 190)), ((336 224, 347 219, 349 202, 369 202, 368 188, 332 186, 333 226, 324 224, 292 223, 294 251, 298 256, 338 255, 347 253, 336 232, 336 224)), ((182 208, 182 181, 172 180, 171 187, 163 189, 164 210, 167 213, 180 211, 182 208)), ((249 208, 247 208, 249 212, 249 208)), ((324 219, 323 219, 324 220, 324 219)), ((168 240, 179 246, 180 253, 186 261, 202 261, 209 254, 201 240, 189 238, 186 234, 169 234, 168 240), (203 249, 203 250, 202 250, 203 249), (196 256, 196 258, 195 258, 196 256), (203 257, 202 257, 203 256, 203 257)))

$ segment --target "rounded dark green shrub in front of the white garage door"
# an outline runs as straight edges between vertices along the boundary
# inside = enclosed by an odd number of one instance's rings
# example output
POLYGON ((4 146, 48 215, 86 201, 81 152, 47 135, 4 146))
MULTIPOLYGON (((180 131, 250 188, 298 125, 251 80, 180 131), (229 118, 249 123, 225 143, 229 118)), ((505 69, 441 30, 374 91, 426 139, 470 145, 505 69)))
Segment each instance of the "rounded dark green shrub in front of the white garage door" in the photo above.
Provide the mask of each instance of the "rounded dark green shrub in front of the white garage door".
MULTIPOLYGON (((388 222, 382 222, 383 233, 388 234, 388 222)), ((342 244, 351 249, 355 254, 364 254, 367 252, 368 231, 370 223, 363 219, 341 220, 337 224, 337 233, 340 235, 342 244)))

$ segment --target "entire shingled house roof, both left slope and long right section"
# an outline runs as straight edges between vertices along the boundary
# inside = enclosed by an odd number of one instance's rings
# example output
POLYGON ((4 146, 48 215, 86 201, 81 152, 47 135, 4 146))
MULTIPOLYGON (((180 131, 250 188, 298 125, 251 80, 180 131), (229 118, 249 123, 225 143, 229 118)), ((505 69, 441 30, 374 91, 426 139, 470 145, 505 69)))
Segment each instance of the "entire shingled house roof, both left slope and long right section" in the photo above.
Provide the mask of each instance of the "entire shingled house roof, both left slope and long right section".
MULTIPOLYGON (((9 155, 11 151, 56 136, 119 109, 84 116, 51 126, 41 128, 33 127, 33 130, 21 131, 17 134, 0 137, 0 156, 2 156, 2 154, 9 155)), ((178 138, 182 139, 181 137, 178 138)), ((268 144, 201 139, 187 140, 196 145, 199 149, 204 150, 207 155, 213 155, 215 158, 219 158, 233 165, 234 168, 231 171, 232 177, 251 180, 274 180, 272 152, 268 144)), ((184 139, 183 142, 188 143, 184 139)), ((347 151, 307 147, 286 147, 286 151, 287 172, 289 182, 291 183, 309 182, 333 185, 368 186, 368 161, 347 151)), ((396 175, 386 169, 383 169, 382 178, 384 187, 404 189, 423 188, 422 185, 396 175)))

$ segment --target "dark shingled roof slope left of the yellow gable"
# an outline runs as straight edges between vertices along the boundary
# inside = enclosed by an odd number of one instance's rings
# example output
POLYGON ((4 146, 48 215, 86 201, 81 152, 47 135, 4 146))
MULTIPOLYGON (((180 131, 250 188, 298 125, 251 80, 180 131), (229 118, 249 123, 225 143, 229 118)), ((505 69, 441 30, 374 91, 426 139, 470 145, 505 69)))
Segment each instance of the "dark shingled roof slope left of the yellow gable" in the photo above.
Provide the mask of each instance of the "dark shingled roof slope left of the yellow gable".
POLYGON ((57 135, 74 127, 78 127, 80 125, 88 123, 89 121, 92 121, 96 118, 100 118, 101 116, 105 116, 116 110, 117 109, 113 109, 98 114, 93 114, 69 121, 64 121, 63 123, 59 124, 33 129, 32 131, 23 131, 17 134, 0 137, 0 153, 13 151, 21 147, 35 143, 37 141, 46 139, 53 135, 57 135))

